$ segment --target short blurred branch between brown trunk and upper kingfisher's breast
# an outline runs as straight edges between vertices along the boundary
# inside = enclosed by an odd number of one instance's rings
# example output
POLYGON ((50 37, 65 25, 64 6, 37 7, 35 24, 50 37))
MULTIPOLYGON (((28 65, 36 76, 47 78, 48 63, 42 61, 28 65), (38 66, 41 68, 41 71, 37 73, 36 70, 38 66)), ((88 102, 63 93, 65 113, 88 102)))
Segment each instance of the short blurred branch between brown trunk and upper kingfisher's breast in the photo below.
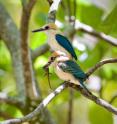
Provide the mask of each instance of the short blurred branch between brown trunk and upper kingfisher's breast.
POLYGON ((48 44, 43 44, 42 46, 36 48, 35 50, 32 51, 32 60, 35 60, 38 56, 46 53, 49 50, 48 44))

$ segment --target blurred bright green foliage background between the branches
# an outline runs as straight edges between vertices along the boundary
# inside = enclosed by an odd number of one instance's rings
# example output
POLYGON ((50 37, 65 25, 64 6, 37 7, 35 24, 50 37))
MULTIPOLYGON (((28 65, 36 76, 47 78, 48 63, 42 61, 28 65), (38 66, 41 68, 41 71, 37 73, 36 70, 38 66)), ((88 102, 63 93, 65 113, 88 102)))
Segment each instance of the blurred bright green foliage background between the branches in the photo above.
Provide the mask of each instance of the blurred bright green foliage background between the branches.
MULTIPOLYGON (((63 1, 67 6, 67 0, 63 1)), ((0 0, 0 3, 5 6, 19 28, 22 7, 20 0, 0 0)), ((70 0, 70 4, 73 6, 73 0, 70 0)), ((31 30, 47 22, 48 11, 49 4, 47 0, 37 0, 29 25, 29 42, 32 50, 46 41, 44 33, 33 34, 31 30)), ((66 30, 68 26, 66 24, 67 11, 67 8, 63 10, 61 5, 57 11, 57 24, 62 25, 62 28, 60 26, 62 31, 66 30)), ((73 7, 71 7, 71 11, 73 13, 73 7)), ((76 18, 82 23, 92 26, 96 31, 104 32, 117 38, 117 0, 77 0, 76 18)), ((85 72, 102 59, 117 57, 117 47, 82 32, 76 34, 73 45, 78 55, 78 63, 85 72)), ((34 61, 36 78, 43 98, 51 92, 48 80, 44 76, 42 69, 49 55, 50 52, 48 51, 34 61)), ((51 69, 51 72, 53 73, 50 79, 51 85, 55 89, 62 81, 54 74, 53 69, 51 69)), ((104 65, 89 78, 87 83, 88 87, 96 95, 110 101, 117 94, 117 64, 104 65)), ((5 92, 11 96, 16 94, 11 57, 2 40, 0 41, 0 92, 5 92)), ((69 90, 67 89, 48 105, 56 124, 67 124, 68 101, 69 90)), ((113 101, 112 105, 117 107, 117 99, 113 101)), ((9 112, 13 117, 22 116, 20 110, 10 105, 0 103, 0 110, 9 112)), ((72 116, 73 124, 117 124, 117 116, 84 98, 76 91, 74 91, 72 116)), ((3 118, 1 117, 0 119, 2 120, 3 118)))

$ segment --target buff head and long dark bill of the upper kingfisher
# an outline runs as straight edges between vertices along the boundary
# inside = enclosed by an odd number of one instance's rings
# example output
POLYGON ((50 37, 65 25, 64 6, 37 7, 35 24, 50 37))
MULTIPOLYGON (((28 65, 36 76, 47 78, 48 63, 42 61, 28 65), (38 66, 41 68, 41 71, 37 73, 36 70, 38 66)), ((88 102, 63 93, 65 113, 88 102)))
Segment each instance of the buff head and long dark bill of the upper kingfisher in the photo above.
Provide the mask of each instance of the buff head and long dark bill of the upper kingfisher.
POLYGON ((56 31, 57 29, 58 29, 58 27, 56 26, 56 24, 49 23, 49 24, 46 24, 46 25, 42 26, 39 29, 33 30, 32 32, 41 32, 41 31, 48 32, 48 31, 52 31, 52 30, 56 31))

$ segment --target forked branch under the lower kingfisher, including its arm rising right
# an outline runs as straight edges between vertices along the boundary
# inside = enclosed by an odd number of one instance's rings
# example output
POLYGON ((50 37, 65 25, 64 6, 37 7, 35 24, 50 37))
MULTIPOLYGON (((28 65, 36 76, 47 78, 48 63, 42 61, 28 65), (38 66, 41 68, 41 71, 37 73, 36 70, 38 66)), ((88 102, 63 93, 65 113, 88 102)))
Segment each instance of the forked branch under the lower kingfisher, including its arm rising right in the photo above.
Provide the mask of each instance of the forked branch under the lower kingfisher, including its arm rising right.
MULTIPOLYGON (((103 60, 99 63, 97 63, 93 68, 89 69, 89 71, 86 73, 88 76, 90 76, 94 71, 96 71, 98 68, 103 66, 104 64, 107 63, 115 63, 117 62, 117 59, 108 59, 108 60, 103 60), (94 69, 95 68, 95 69, 94 69)), ((39 105, 38 107, 32 111, 31 113, 27 114, 26 116, 18 119, 10 119, 1 122, 1 124, 18 124, 26 121, 32 120, 35 116, 37 116, 50 102, 52 99, 55 98, 58 94, 60 94, 64 89, 72 87, 73 89, 79 91, 83 96, 86 98, 94 101, 96 104, 102 106, 106 110, 112 112, 113 114, 117 115, 117 108, 109 104, 108 102, 104 101, 101 98, 96 97, 93 95, 91 92, 87 92, 84 88, 82 88, 80 85, 76 85, 70 82, 64 82, 62 85, 57 87, 52 93, 50 93, 39 105)))

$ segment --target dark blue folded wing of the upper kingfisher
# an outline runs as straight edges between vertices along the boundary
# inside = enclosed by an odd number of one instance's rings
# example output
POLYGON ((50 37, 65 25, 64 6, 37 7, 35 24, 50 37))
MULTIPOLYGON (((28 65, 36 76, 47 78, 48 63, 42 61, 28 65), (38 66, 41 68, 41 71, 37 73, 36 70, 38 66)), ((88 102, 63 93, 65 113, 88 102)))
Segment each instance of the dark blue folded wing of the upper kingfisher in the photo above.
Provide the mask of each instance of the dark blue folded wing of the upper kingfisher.
POLYGON ((75 60, 77 60, 77 56, 76 53, 72 47, 72 44, 70 43, 70 41, 65 37, 62 36, 60 34, 56 34, 55 38, 57 40, 57 42, 63 47, 65 48, 71 55, 73 58, 75 58, 75 60))

